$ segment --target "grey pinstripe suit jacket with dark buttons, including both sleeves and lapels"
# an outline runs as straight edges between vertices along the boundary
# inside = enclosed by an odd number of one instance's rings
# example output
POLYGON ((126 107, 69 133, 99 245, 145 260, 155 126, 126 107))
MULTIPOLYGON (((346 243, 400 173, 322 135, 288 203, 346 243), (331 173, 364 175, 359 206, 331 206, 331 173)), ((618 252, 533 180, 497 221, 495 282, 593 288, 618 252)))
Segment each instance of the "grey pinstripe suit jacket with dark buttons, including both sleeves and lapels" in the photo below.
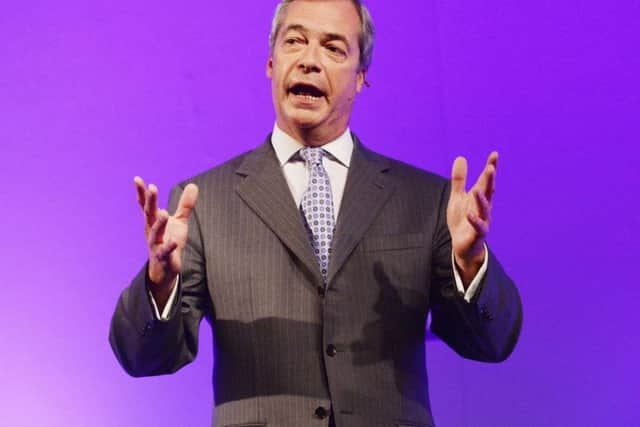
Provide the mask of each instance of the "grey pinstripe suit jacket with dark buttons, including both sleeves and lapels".
POLYGON ((113 315, 110 342, 129 374, 189 363, 206 317, 216 427, 431 426, 429 310, 460 355, 511 353, 520 297, 494 255, 471 303, 455 289, 449 182, 354 140, 326 288, 270 139, 188 181, 200 195, 170 320, 154 317, 146 267, 113 315))

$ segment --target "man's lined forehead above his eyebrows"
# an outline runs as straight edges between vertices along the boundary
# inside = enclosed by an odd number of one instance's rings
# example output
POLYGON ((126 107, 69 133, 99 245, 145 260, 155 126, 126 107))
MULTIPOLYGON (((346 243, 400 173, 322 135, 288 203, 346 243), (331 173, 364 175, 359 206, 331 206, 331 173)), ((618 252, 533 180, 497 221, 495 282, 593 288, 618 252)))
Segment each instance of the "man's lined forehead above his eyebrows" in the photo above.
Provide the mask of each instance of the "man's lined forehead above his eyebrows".
POLYGON ((302 26, 318 34, 340 34, 358 40, 360 16, 350 0, 297 0, 289 4, 281 29, 302 26))

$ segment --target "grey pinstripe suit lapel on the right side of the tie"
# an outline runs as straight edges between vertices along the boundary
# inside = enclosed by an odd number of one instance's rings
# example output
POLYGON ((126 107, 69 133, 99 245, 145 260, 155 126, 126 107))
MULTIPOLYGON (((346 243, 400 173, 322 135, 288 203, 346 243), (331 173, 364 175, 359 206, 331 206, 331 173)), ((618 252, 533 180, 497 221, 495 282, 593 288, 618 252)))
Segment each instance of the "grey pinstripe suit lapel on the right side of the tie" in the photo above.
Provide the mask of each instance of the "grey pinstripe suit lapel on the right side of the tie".
POLYGON ((353 135, 354 149, 334 233, 327 282, 331 283, 393 193, 388 160, 353 135))

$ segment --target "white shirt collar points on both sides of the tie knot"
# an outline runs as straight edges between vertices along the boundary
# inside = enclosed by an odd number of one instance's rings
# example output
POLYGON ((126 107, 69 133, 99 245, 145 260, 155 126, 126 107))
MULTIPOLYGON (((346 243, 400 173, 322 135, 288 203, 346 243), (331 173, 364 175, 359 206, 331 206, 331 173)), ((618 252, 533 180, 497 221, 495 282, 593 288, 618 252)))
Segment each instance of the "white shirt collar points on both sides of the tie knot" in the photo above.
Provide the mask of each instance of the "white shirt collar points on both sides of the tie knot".
MULTIPOLYGON (((291 157, 304 147, 304 145, 281 130, 277 123, 273 125, 271 145, 276 152, 280 166, 288 163, 291 157)), ((322 148, 348 168, 351 164, 351 154, 353 153, 351 130, 347 128, 342 135, 326 143, 322 148)))

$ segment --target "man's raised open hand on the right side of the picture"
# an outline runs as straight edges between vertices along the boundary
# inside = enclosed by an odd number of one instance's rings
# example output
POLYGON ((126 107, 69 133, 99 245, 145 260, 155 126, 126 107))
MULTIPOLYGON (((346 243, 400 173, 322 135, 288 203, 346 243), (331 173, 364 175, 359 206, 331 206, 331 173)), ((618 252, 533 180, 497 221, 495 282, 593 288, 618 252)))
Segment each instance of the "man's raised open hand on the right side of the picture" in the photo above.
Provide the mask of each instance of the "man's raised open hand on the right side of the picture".
POLYGON ((451 248, 465 286, 471 282, 484 261, 484 242, 491 223, 497 165, 498 153, 494 151, 489 155, 480 177, 467 192, 467 160, 457 157, 453 162, 447 225, 451 234, 451 248))

